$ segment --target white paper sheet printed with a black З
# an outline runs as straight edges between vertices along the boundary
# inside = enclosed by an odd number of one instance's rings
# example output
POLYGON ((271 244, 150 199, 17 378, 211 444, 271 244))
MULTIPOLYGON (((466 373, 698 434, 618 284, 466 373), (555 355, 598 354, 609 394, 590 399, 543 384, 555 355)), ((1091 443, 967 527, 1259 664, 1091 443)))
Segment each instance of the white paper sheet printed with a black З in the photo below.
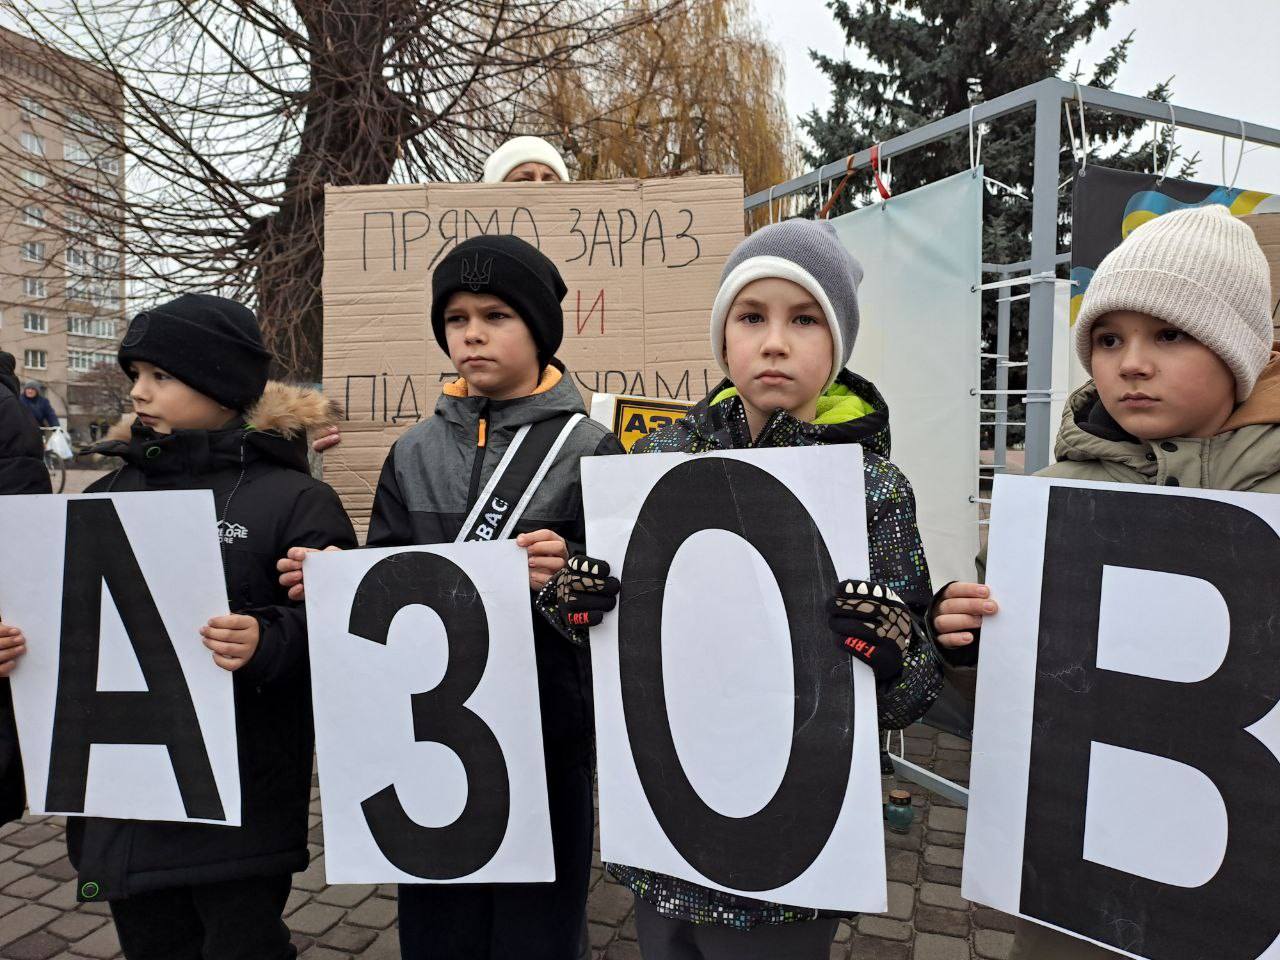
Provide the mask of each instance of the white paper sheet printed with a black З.
POLYGON ((328 881, 554 879, 525 552, 315 553, 306 580, 328 881))

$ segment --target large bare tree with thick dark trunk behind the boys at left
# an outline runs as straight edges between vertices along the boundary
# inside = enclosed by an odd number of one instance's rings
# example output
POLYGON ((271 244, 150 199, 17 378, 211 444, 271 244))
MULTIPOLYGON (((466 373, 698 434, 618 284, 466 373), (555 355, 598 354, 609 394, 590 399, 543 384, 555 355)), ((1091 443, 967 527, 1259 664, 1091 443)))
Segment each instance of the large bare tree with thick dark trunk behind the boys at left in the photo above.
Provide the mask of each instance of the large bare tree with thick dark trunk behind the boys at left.
MULTIPOLYGON (((660 3, 660 0, 658 0, 660 3)), ((0 202, 56 202, 113 238, 136 298, 253 303, 278 372, 319 379, 324 188, 474 179, 559 72, 660 8, 609 0, 0 0, 0 100, 40 97, 119 193, 45 157, 0 202), (60 55, 33 51, 37 41, 60 55), (97 69, 83 79, 83 63, 97 69), (90 118, 88 123, 78 118, 90 118)), ((40 161, 0 137, 0 164, 40 161)))

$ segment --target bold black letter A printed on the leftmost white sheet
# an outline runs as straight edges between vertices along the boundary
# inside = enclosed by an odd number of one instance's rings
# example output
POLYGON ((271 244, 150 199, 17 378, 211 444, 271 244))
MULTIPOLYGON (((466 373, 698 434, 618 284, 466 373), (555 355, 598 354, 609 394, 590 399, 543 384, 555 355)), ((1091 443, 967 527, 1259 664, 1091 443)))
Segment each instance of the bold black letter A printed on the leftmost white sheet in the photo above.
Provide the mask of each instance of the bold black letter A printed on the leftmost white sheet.
POLYGON ((68 500, 58 704, 45 795, 50 810, 84 809, 93 744, 163 744, 169 748, 187 815, 227 819, 182 666, 115 504, 68 500), (146 692, 97 690, 104 580, 138 658, 146 692))

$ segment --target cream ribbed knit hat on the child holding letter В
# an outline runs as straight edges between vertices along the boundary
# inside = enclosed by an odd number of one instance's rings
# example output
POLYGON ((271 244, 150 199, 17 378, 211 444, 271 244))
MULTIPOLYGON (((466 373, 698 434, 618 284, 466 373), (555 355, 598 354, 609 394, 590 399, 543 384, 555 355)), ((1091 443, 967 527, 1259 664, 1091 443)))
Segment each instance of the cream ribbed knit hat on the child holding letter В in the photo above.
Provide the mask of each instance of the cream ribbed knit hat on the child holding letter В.
POLYGON ((1098 265, 1075 321, 1075 352, 1092 372, 1098 317, 1148 314, 1217 353, 1243 401, 1271 357, 1270 307, 1270 269, 1253 230, 1220 204, 1179 210, 1144 223, 1098 265))

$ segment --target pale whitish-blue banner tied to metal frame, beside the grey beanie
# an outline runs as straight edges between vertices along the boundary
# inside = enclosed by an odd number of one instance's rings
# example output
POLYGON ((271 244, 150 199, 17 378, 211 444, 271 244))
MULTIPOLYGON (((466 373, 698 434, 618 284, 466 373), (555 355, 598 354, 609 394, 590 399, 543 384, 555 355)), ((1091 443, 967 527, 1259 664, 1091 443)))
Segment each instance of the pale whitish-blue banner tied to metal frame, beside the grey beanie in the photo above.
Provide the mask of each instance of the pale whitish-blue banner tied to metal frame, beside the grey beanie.
POLYGON ((978 554, 982 168, 832 220, 865 270, 849 369, 888 402, 937 586, 978 554))

